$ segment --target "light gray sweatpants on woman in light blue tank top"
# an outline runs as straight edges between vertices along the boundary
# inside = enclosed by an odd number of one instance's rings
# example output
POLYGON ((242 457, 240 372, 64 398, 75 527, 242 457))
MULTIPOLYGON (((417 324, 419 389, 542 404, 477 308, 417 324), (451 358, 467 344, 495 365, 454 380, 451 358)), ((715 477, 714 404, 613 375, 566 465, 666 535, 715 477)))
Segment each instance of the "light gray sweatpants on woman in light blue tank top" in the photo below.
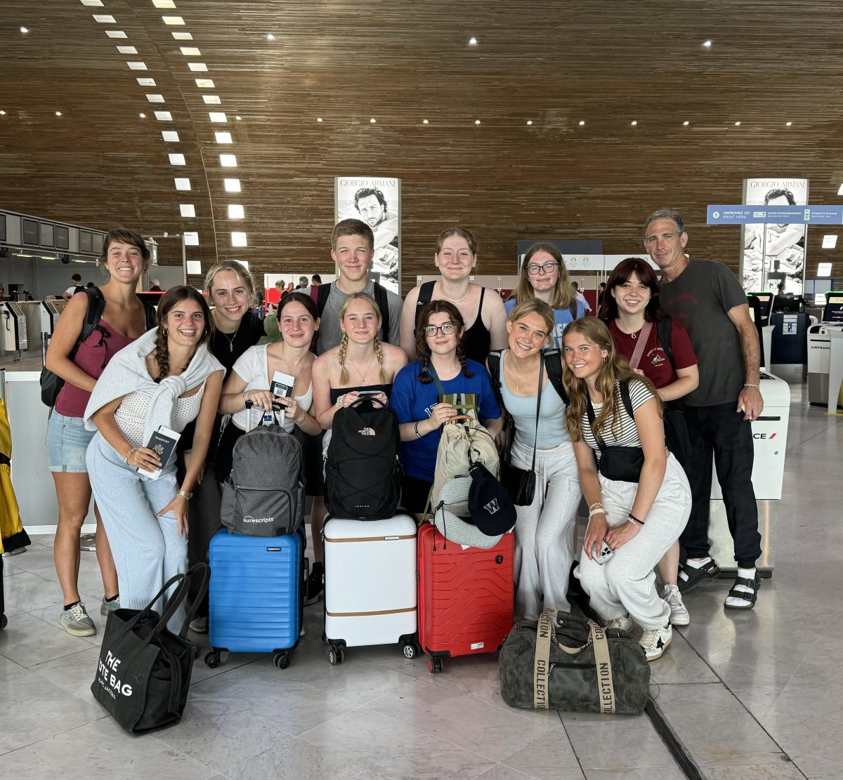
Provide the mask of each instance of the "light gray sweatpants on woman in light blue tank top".
MULTIPOLYGON (((533 448, 513 442, 513 466, 529 468, 533 448)), ((581 493, 570 441, 535 454, 535 495, 515 508, 515 619, 538 620, 542 606, 570 612, 568 577, 581 493)))

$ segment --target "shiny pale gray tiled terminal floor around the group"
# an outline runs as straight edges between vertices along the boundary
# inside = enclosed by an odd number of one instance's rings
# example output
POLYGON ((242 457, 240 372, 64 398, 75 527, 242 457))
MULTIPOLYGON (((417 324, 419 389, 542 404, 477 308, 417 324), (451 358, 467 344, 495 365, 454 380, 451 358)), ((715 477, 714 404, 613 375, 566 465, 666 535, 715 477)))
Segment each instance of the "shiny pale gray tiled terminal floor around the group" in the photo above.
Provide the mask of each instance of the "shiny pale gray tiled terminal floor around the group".
MULTIPOLYGON (((753 612, 724 612, 728 580, 687 600, 692 622, 652 665, 652 694, 711 780, 843 777, 843 417, 793 388, 776 569, 753 612), (783 519, 781 519, 783 518, 783 519), (835 594, 837 594, 835 596, 835 594)), ((351 649, 332 667, 321 607, 280 671, 267 657, 201 660, 178 726, 131 738, 89 693, 99 634, 56 627, 51 540, 5 558, 0 778, 9 780, 680 780, 646 717, 515 711, 491 657, 431 676, 396 648, 351 649)), ((80 589, 96 619, 96 559, 80 589)))

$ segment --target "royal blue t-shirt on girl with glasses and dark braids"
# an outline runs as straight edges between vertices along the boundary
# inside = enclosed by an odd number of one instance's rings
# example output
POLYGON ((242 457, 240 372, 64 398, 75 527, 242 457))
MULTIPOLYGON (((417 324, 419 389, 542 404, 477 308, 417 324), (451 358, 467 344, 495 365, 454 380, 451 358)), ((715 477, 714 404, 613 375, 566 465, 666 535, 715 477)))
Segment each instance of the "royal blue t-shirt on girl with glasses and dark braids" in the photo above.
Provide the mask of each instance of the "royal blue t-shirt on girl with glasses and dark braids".
MULTIPOLYGON (((497 405, 486 366, 475 361, 466 361, 466 366, 469 371, 474 371, 474 376, 468 379, 460 371, 453 379, 442 382, 443 390, 445 393, 476 393, 480 404, 481 422, 497 419, 501 416, 501 408, 497 405)), ((389 408, 398 416, 399 423, 427 419, 430 417, 432 405, 438 402, 439 391, 436 382, 423 385, 418 379, 420 375, 421 361, 415 361, 404 366, 395 376, 392 395, 389 396, 389 408)), ((400 459, 404 473, 432 482, 438 446, 439 430, 432 430, 420 439, 402 441, 400 459)))

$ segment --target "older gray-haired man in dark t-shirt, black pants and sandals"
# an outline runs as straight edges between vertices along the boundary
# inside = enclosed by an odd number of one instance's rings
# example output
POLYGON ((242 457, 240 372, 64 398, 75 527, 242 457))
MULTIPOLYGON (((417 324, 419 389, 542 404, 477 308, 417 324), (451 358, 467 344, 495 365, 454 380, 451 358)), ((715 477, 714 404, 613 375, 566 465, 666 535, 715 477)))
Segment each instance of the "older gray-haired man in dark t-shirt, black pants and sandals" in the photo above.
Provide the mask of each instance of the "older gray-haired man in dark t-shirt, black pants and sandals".
POLYGON ((764 409, 758 332, 733 273, 722 263, 688 259, 687 243, 678 211, 663 209, 647 218, 644 247, 662 270, 661 306, 685 326, 700 369, 699 386, 684 398, 692 447, 685 471, 693 505, 679 537, 687 553, 679 589, 690 590, 720 572, 708 541, 713 457, 738 564, 725 606, 752 609, 760 585, 755 561, 761 554, 751 427, 764 409))

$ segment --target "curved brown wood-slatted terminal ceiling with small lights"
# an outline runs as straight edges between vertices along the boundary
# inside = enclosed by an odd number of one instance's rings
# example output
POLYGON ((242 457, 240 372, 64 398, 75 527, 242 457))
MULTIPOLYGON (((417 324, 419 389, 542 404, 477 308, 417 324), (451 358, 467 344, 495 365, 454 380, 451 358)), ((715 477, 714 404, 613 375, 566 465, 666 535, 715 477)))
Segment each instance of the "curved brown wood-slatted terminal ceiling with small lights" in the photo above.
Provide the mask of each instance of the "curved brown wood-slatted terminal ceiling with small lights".
MULTIPOLYGON (((843 200, 840 29, 843 5, 808 0, 3 0, 0 205, 196 232, 203 266, 326 271, 334 177, 395 176, 405 290, 449 225, 512 272, 518 238, 640 248, 662 206, 737 268, 739 229, 705 207, 744 178, 843 200)), ((808 276, 843 273, 829 232, 808 231, 808 276)))

